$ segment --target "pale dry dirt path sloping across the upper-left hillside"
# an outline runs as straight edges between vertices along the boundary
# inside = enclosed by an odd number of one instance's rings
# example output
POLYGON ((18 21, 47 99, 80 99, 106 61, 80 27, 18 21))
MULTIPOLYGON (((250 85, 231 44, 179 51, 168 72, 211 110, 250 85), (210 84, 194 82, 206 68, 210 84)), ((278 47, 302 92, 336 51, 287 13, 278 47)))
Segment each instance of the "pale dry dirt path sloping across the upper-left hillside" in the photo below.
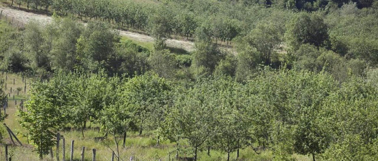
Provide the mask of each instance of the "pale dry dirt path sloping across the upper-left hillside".
MULTIPOLYGON (((18 9, 11 9, 4 6, 0 6, 0 11, 3 11, 3 16, 8 14, 8 17, 14 17, 15 20, 21 21, 22 23, 28 23, 29 21, 39 21, 41 24, 50 23, 52 18, 47 15, 34 14, 31 12, 21 11, 18 9)), ((129 37, 130 39, 135 39, 141 42, 153 42, 153 38, 148 35, 143 35, 134 32, 128 32, 124 30, 118 30, 121 36, 129 37)), ((184 49, 188 52, 191 52, 194 46, 194 43, 191 41, 182 41, 177 39, 167 39, 167 46, 184 49)))

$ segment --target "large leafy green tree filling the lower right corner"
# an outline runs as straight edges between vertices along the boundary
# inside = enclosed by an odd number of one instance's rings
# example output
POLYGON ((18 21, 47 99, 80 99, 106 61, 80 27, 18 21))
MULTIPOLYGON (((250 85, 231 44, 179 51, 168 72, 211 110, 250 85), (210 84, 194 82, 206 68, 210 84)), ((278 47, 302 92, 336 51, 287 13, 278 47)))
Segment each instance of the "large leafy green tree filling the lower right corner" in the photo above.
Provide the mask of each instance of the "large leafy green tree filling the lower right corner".
POLYGON ((318 123, 330 145, 324 159, 375 160, 377 89, 358 77, 334 91, 319 112, 318 123))

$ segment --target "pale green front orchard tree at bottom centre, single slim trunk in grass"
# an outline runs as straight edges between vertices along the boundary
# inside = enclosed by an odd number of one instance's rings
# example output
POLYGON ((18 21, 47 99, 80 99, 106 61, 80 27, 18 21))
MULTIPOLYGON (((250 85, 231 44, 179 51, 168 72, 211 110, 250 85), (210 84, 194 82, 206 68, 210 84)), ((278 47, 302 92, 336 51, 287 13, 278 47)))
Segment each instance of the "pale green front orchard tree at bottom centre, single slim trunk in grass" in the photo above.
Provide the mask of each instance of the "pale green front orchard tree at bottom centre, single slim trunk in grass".
MULTIPOLYGON (((205 141, 214 135, 216 126, 215 120, 215 88, 211 82, 198 81, 193 88, 186 92, 179 92, 175 95, 174 108, 171 109, 167 122, 170 124, 170 131, 175 132, 174 138, 178 140, 187 139, 193 148, 194 160, 197 160, 197 153, 205 141)), ((171 140, 171 141, 178 141, 171 140)))

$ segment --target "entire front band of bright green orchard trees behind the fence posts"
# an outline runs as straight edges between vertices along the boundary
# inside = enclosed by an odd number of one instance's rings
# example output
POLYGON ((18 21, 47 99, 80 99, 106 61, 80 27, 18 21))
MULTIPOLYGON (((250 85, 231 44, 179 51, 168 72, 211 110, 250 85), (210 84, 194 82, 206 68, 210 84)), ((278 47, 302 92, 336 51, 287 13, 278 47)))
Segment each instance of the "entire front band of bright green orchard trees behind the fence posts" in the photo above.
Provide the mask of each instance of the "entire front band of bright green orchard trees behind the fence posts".
POLYGON ((59 72, 32 85, 28 112, 19 115, 41 157, 65 125, 83 128, 91 121, 117 140, 116 156, 127 132, 152 131, 157 145, 170 140, 178 155, 189 148, 195 160, 198 151, 220 150, 229 160, 229 153, 254 146, 272 150, 280 161, 293 153, 313 160, 376 160, 374 80, 351 76, 339 85, 324 72, 271 68, 246 84, 231 77, 176 84, 153 73, 125 78, 59 72))

